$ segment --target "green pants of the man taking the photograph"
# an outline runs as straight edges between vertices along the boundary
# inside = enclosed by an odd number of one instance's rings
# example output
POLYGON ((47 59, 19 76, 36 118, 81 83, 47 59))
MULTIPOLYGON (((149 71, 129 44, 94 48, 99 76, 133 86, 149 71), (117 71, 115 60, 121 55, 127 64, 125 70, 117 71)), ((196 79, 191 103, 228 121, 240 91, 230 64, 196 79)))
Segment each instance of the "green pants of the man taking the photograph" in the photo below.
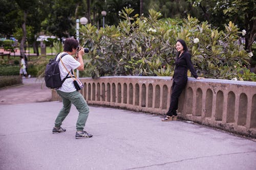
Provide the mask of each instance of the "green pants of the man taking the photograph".
POLYGON ((59 128, 62 125, 63 120, 67 117, 67 115, 70 112, 71 104, 73 104, 79 112, 78 119, 76 122, 76 130, 83 131, 83 128, 86 125, 87 117, 89 115, 89 107, 86 103, 86 100, 84 100, 82 94, 78 91, 56 91, 62 99, 63 107, 59 111, 59 114, 55 120, 55 127, 59 128))

